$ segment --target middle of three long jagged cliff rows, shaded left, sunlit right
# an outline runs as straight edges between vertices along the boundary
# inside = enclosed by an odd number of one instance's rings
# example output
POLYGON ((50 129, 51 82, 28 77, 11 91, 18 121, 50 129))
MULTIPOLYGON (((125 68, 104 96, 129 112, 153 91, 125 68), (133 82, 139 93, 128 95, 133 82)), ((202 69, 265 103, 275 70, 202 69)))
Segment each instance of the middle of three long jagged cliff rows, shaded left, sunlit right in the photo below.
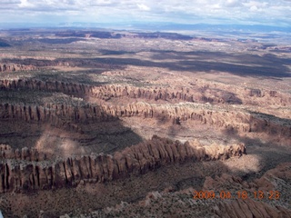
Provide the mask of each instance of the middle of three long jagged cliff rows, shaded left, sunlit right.
POLYGON ((223 130, 239 133, 265 133, 289 139, 291 126, 288 120, 267 114, 247 113, 216 108, 213 110, 203 104, 146 104, 73 106, 67 104, 17 105, 0 104, 0 119, 23 120, 25 122, 49 123, 80 132, 76 124, 98 121, 113 121, 120 117, 136 116, 181 124, 194 122, 217 126, 223 130))

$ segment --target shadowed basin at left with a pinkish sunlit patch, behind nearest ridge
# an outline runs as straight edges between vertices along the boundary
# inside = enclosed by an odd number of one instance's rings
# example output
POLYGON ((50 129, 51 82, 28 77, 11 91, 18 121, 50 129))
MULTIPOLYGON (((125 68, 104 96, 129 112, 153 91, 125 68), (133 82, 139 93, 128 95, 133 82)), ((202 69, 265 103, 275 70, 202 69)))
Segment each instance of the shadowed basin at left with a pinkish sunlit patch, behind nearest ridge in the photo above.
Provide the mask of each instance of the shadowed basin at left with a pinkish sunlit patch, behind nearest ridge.
MULTIPOLYGON (((1 91, 1 94, 4 92, 7 91, 1 91)), ((33 93, 29 98, 37 98, 37 92, 33 93)), ((50 148, 48 150, 52 153, 55 151, 56 154, 62 156, 62 149, 66 150, 66 155, 70 152, 73 154, 91 154, 91 152, 112 154, 126 146, 143 141, 140 135, 125 127, 119 118, 106 114, 98 105, 88 108, 89 105, 85 103, 50 101, 49 93, 42 96, 45 98, 41 104, 33 100, 25 102, 27 95, 18 98, 22 101, 11 102, 10 100, 9 104, 20 105, 18 109, 15 106, 8 107, 6 101, 2 101, 0 144, 9 144, 14 149, 25 146, 32 148, 38 144, 39 148, 50 148), (55 106, 52 107, 53 105, 55 106), (38 109, 35 109, 36 106, 38 109), (25 115, 25 108, 26 111, 29 108, 29 111, 34 112, 25 115), (79 113, 88 114, 82 116, 79 113), (76 152, 70 151, 71 149, 75 149, 76 152)), ((2 100, 5 99, 2 98, 2 100)))

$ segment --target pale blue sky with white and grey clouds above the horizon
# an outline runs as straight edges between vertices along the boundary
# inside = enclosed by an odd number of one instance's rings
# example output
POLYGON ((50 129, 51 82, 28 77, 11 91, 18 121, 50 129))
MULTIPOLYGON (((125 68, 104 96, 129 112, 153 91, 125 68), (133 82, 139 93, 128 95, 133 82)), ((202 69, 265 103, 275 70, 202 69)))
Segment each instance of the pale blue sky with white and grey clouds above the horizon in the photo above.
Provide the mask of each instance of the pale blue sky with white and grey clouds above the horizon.
POLYGON ((0 0, 0 23, 291 25, 291 0, 0 0))

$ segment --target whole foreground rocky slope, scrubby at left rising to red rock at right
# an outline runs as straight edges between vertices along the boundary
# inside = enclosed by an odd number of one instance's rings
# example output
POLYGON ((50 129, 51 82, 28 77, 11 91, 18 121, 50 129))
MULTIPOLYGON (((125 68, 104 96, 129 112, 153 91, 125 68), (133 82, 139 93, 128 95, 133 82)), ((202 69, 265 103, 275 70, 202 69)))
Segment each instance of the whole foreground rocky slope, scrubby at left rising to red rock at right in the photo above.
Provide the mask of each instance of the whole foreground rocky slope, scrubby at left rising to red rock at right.
MULTIPOLYGON (((127 203, 121 202, 111 207, 106 207, 102 210, 83 214, 88 217, 102 216, 158 216, 158 217, 290 217, 290 166, 291 163, 282 163, 276 166, 275 169, 267 171, 261 178, 246 182, 243 179, 224 173, 221 176, 216 176, 215 179, 206 177, 203 187, 204 192, 215 192, 218 196, 220 192, 232 193, 231 197, 220 198, 204 198, 204 195, 196 195, 199 192, 193 187, 185 190, 175 190, 169 186, 163 192, 150 192, 146 197, 139 202, 127 203), (258 183, 264 180, 265 183, 258 183), (272 183, 272 186, 268 184, 272 183), (265 189, 266 188, 266 189, 265 189), (281 193, 279 199, 269 199, 269 196, 258 199, 252 195, 258 191, 269 192, 277 190, 281 193), (242 193, 245 191, 247 197, 242 199, 236 195, 236 192, 242 193), (284 193, 284 191, 286 191, 284 193), (201 199, 199 199, 199 196, 201 199)), ((206 195, 205 195, 206 196, 206 195)), ((240 195, 241 196, 241 195, 240 195)), ((246 196, 246 195, 245 195, 246 196)), ((82 215, 79 215, 82 216, 82 215)), ((73 214, 65 214, 61 217, 79 217, 73 214)))

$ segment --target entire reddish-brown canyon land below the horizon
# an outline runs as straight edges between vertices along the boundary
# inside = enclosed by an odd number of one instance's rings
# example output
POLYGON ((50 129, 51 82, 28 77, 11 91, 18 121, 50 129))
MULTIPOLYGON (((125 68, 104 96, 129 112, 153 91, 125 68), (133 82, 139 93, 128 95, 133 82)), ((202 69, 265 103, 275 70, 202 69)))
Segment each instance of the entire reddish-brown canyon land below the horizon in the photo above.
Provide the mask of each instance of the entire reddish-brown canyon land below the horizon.
POLYGON ((285 38, 34 29, 0 43, 5 217, 290 217, 285 38))

